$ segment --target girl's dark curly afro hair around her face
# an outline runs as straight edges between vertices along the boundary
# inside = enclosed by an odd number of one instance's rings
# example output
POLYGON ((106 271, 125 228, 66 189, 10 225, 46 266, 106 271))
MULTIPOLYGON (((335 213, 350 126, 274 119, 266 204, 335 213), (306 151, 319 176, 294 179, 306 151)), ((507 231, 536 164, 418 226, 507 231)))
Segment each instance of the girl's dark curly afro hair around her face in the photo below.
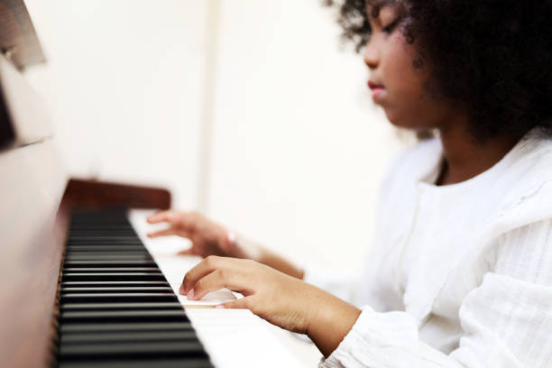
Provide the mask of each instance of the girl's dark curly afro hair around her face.
POLYGON ((436 97, 467 111, 480 142, 552 136, 552 0, 342 0, 338 22, 360 51, 370 38, 366 5, 400 7, 405 38, 428 68, 436 97))

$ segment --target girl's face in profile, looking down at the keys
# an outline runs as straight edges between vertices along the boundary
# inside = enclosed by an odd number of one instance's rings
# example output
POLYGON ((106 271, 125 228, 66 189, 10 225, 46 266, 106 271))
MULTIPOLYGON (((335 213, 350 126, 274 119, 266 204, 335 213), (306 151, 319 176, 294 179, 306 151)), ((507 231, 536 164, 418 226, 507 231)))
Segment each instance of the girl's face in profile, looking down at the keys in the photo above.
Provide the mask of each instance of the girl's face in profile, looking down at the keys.
POLYGON ((428 65, 414 67, 415 44, 401 32, 404 19, 395 5, 382 5, 378 14, 367 7, 372 35, 363 59, 371 71, 368 87, 391 124, 422 131, 443 128, 452 108, 428 93, 428 65))

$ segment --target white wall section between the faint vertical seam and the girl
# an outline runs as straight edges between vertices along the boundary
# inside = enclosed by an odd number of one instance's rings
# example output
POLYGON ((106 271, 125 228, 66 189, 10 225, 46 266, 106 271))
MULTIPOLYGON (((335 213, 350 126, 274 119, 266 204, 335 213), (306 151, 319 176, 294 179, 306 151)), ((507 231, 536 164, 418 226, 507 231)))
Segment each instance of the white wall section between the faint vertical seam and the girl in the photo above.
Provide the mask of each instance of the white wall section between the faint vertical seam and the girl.
POLYGON ((319 3, 223 2, 208 213, 299 261, 357 268, 399 143, 319 3))

